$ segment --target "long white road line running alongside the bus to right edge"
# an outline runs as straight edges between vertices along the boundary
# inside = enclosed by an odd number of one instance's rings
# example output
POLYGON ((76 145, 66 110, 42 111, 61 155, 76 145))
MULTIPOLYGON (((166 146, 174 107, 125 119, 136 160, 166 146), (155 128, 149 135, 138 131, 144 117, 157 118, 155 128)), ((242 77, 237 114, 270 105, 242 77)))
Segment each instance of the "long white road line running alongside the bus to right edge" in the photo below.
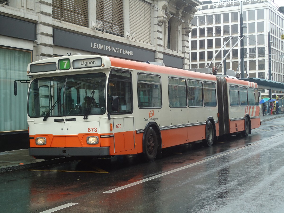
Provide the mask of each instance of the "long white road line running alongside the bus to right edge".
MULTIPOLYGON (((277 134, 277 135, 274 135, 274 136, 270 137, 269 139, 272 139, 272 138, 275 138, 275 137, 279 137, 280 135, 284 135, 284 133, 279 133, 279 134, 277 134)), ((131 187, 131 186, 135 186, 135 185, 140 184, 140 183, 144 183, 144 182, 149 181, 149 180, 153 180, 153 179, 155 179, 155 178, 160 178, 160 177, 162 177, 162 176, 171 174, 171 173, 173 173, 173 172, 178 172, 178 171, 180 171, 180 170, 189 168, 189 167, 191 167, 191 166, 195 166, 195 165, 197 165, 197 164, 201 164, 201 163, 204 163, 204 162, 206 162, 206 161, 209 161, 209 160, 213 160, 213 159, 215 159, 215 158, 222 157, 222 156, 224 156, 224 155, 226 155, 226 154, 230 154, 230 153, 239 151, 239 150, 241 150, 241 149, 245 149, 245 148, 247 148, 247 147, 254 146, 254 145, 256 145, 256 144, 259 144, 259 143, 262 143, 262 142, 265 142, 265 141, 267 141, 267 139, 263 139, 263 140, 261 140, 261 141, 259 141, 259 142, 250 144, 250 145, 248 145, 248 146, 245 146, 245 147, 242 147, 242 148, 239 148, 239 149, 235 149, 235 150, 233 150, 233 151, 229 151, 229 152, 226 152, 226 153, 222 153, 222 154, 216 155, 216 156, 214 156, 214 157, 207 158, 207 159, 205 159, 205 160, 201 160, 201 161, 199 161, 199 162, 196 162, 196 163, 193 163, 193 164, 189 164, 189 165, 187 165, 187 166, 180 167, 180 168, 178 168, 178 169, 174 169, 174 170, 171 170, 171 171, 168 171, 168 172, 164 172, 164 173, 162 173, 162 174, 155 175, 155 176, 152 176, 152 177, 150 177, 150 178, 146 178, 146 179, 143 179, 143 180, 139 180, 139 181, 136 181, 136 182, 134 182, 134 183, 130 183, 130 184, 128 184, 128 185, 124 185, 124 186, 121 186, 121 187, 118 187, 118 188, 115 188, 115 189, 111 189, 111 190, 109 190, 109 191, 105 191, 104 193, 113 193, 113 192, 116 192, 116 191, 119 191, 119 190, 122 190, 122 189, 125 189, 125 188, 128 188, 128 187, 131 187)))

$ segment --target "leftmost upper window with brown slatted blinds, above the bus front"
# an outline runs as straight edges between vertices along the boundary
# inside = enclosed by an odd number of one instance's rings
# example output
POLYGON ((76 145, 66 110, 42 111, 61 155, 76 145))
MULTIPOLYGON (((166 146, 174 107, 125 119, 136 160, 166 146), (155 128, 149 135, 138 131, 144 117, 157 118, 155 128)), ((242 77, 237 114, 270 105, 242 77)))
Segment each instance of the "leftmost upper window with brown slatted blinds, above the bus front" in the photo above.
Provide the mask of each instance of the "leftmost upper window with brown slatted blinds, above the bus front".
POLYGON ((88 0, 52 0, 52 18, 89 27, 88 0))

